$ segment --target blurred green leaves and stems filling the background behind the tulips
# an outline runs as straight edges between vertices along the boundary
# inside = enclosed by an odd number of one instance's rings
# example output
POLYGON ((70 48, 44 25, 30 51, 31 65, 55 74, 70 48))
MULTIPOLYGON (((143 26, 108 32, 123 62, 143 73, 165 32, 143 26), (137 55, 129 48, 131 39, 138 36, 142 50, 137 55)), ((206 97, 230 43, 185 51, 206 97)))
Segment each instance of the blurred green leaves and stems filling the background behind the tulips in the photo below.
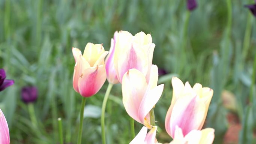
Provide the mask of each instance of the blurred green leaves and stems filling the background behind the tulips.
MULTIPOLYGON (((116 30, 151 33, 153 64, 168 74, 156 104, 157 138, 170 142, 164 119, 170 106, 171 77, 214 90, 205 127, 215 129, 215 144, 256 144, 256 19, 245 4, 253 0, 198 0, 189 12, 185 0, 0 0, 0 61, 15 85, 0 93, 0 108, 10 128, 11 144, 57 144, 62 117, 65 143, 76 143, 81 96, 72 86, 71 47, 103 43, 109 50, 116 30), (253 67, 254 62, 254 67, 253 67), (31 124, 21 101, 23 86, 34 85, 38 126, 31 124), (229 93, 223 94, 223 90, 229 93), (230 122, 229 116, 236 122, 230 122), (238 126, 233 139, 229 129, 238 126)), ((83 144, 101 144, 103 88, 86 101, 83 144)), ((121 85, 112 89, 106 109, 108 144, 131 141, 121 85)), ((135 134, 142 125, 135 122, 135 134)))

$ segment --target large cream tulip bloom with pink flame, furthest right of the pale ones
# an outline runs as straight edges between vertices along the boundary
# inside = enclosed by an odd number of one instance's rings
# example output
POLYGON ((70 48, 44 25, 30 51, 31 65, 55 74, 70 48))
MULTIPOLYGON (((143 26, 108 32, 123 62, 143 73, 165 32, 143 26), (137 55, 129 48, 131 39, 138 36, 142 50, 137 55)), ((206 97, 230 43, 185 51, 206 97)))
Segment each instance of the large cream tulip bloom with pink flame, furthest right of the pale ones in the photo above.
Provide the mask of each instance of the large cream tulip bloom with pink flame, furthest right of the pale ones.
POLYGON ((192 130, 201 130, 213 90, 202 88, 196 83, 193 88, 188 82, 185 85, 177 77, 172 79, 173 98, 165 118, 165 129, 174 138, 176 125, 182 129, 183 135, 192 130))

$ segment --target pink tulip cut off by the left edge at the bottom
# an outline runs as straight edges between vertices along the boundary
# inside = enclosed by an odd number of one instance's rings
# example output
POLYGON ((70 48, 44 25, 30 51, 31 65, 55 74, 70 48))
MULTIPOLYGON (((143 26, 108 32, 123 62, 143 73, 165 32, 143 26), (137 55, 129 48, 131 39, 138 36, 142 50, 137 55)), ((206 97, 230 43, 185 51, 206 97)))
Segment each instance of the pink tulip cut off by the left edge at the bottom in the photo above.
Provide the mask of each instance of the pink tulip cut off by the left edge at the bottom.
POLYGON ((1 109, 0 109, 0 144, 10 144, 8 124, 6 122, 6 119, 1 109))

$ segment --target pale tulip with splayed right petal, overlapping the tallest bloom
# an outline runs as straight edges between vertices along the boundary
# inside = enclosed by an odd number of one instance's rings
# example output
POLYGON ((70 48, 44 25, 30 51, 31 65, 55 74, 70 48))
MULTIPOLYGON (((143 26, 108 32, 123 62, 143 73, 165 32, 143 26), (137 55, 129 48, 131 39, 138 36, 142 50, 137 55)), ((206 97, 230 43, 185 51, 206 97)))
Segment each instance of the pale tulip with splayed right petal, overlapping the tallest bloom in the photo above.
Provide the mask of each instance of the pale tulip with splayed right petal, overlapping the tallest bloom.
POLYGON ((149 82, 144 74, 131 69, 124 74, 122 79, 122 94, 125 110, 134 120, 142 123, 147 128, 150 125, 150 110, 162 95, 164 84, 157 86, 158 68, 152 65, 149 82))

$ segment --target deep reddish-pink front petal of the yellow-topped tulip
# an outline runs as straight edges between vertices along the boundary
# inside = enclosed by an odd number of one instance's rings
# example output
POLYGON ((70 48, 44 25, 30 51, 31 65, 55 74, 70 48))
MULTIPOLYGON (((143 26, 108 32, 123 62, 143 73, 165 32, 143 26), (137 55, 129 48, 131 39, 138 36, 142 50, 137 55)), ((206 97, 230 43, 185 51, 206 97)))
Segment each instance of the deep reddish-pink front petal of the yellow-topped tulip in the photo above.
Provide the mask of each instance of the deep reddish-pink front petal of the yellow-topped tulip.
POLYGON ((78 79, 79 93, 84 97, 96 94, 106 81, 106 69, 103 65, 83 70, 78 79))

